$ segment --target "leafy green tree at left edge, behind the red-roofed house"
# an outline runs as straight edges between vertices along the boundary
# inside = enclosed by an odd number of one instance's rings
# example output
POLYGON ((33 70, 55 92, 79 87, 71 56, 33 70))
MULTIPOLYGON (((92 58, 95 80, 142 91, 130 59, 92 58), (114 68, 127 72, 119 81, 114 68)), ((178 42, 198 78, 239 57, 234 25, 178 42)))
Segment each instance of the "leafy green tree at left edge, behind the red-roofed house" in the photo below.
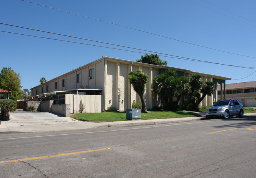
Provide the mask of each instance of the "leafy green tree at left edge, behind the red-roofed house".
POLYGON ((12 100, 21 99, 20 74, 14 72, 11 67, 3 67, 0 73, 0 89, 11 91, 9 98, 12 100))

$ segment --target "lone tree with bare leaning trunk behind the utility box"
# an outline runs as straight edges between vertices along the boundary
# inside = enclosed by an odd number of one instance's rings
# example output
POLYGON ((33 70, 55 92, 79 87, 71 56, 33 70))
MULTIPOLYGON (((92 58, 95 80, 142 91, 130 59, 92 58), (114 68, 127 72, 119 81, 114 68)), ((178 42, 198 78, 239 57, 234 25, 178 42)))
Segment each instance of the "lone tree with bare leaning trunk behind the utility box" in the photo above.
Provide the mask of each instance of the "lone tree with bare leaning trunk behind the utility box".
POLYGON ((131 71, 129 72, 128 80, 132 87, 134 88, 134 91, 138 93, 139 97, 141 98, 141 112, 147 113, 147 106, 146 101, 144 98, 145 88, 148 83, 148 76, 144 74, 143 70, 136 70, 136 72, 131 71))

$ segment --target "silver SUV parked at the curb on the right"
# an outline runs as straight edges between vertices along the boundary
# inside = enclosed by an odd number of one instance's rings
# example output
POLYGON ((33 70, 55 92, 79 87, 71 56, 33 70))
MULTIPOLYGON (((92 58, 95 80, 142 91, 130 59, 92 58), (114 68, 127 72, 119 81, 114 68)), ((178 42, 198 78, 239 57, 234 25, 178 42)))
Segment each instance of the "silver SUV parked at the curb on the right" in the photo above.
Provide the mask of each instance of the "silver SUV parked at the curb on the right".
POLYGON ((243 104, 238 99, 217 101, 211 108, 206 109, 206 119, 211 117, 224 117, 228 119, 231 115, 243 117, 243 104))

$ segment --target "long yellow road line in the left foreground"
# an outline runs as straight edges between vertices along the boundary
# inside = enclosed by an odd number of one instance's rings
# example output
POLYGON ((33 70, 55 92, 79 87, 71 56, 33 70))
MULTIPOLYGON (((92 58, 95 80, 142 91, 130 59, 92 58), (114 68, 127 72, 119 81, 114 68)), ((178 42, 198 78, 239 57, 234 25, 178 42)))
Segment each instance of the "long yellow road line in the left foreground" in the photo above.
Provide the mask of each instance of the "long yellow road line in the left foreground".
POLYGON ((13 159, 13 160, 8 160, 8 161, 1 161, 0 163, 13 163, 13 162, 17 162, 17 161, 27 161, 27 160, 32 160, 32 159, 53 158, 53 157, 58 157, 58 156, 71 155, 71 154, 96 152, 96 151, 101 151, 101 150, 106 150, 106 149, 110 149, 110 148, 102 148, 102 149, 98 149, 98 150, 87 150, 87 151, 82 151, 82 152, 55 154, 55 155, 49 155, 49 156, 39 156, 39 157, 33 157, 33 158, 13 159))

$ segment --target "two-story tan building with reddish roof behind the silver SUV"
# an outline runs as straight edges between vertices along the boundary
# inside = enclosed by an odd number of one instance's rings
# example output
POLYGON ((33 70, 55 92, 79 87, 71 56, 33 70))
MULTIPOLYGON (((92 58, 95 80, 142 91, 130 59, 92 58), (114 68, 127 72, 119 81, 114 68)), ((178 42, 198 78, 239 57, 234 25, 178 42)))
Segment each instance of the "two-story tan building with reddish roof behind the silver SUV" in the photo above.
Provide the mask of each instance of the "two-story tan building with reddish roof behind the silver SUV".
MULTIPOLYGON (((223 86, 224 87, 224 86, 223 86)), ((241 100, 244 107, 256 107, 256 81, 230 83, 225 86, 225 98, 241 100)), ((224 93, 223 93, 224 94, 224 93)), ((221 97, 221 86, 218 85, 218 98, 221 97)))

